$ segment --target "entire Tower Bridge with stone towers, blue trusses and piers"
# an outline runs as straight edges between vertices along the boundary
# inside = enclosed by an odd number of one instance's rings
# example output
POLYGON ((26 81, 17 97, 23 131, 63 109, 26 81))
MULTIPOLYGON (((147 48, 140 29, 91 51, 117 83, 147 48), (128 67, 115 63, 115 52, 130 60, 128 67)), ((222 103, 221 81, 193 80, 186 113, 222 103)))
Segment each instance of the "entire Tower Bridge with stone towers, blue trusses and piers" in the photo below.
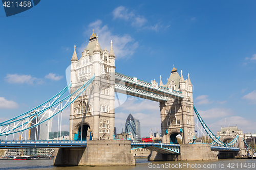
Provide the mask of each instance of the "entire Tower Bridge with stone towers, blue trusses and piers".
MULTIPOLYGON (((166 84, 163 84, 161 76, 158 84, 155 79, 146 82, 137 77, 123 75, 115 71, 115 54, 112 41, 110 43, 109 52, 106 48, 102 50, 98 35, 93 32, 79 60, 76 46, 74 46, 70 70, 71 84, 38 107, 0 123, 0 136, 36 127, 70 106, 71 141, 62 144, 62 146, 66 144, 66 147, 61 148, 61 144, 49 143, 50 141, 39 142, 39 147, 44 144, 45 147, 46 145, 49 147, 60 145, 60 149, 56 151, 55 165, 99 165, 97 161, 101 162, 100 165, 110 165, 109 161, 112 162, 111 165, 134 165, 135 160, 130 154, 131 148, 142 147, 142 144, 113 140, 114 93, 119 92, 159 102, 162 143, 143 143, 143 148, 152 150, 149 160, 202 160, 202 158, 203 160, 218 160, 217 155, 211 150, 218 150, 218 147, 222 147, 219 150, 225 150, 225 147, 226 150, 232 150, 230 147, 236 144, 238 137, 233 138, 229 143, 224 143, 209 130, 197 112, 193 102, 193 89, 189 74, 185 80, 182 71, 179 75, 177 68, 173 67, 166 84), (69 88, 71 94, 64 97, 64 93, 69 88), (211 145, 218 146, 210 147, 210 144, 202 143, 189 144, 194 143, 195 136, 193 110, 204 130, 214 140, 211 145), (177 144, 177 135, 182 136, 180 145, 177 144), (82 141, 86 145, 81 143, 79 145, 76 141, 82 141), (81 150, 73 150, 72 147, 81 147, 81 150), (114 149, 116 152, 112 151, 114 149), (96 152, 98 150, 101 152, 96 152), (72 158, 72 155, 77 155, 77 152, 80 153, 80 157, 72 158), (189 154, 191 152, 194 154, 189 154), (166 153, 176 156, 163 156, 166 153), (70 157, 70 161, 65 158, 66 162, 63 162, 65 154, 70 157), (196 157, 191 156, 195 154, 197 154, 196 157), (107 160, 106 157, 113 157, 113 159, 107 160)), ((1 142, 1 145, 5 147, 11 147, 10 144, 15 145, 13 142, 1 142)), ((21 147, 24 144, 28 147, 26 142, 16 144, 21 147)), ((232 151, 238 152, 238 149, 232 151)))

